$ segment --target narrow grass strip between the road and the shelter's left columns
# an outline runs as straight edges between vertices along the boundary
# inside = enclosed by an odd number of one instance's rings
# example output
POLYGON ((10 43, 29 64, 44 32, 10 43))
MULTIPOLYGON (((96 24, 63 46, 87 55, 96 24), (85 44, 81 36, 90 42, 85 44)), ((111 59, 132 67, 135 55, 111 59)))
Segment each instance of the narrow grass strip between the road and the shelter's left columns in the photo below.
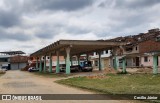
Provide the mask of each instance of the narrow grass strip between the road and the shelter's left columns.
POLYGON ((67 75, 67 74, 63 74, 63 73, 49 73, 49 72, 32 72, 35 75, 39 75, 39 76, 44 76, 44 77, 48 77, 48 78, 53 78, 53 77, 69 77, 71 75, 67 75))

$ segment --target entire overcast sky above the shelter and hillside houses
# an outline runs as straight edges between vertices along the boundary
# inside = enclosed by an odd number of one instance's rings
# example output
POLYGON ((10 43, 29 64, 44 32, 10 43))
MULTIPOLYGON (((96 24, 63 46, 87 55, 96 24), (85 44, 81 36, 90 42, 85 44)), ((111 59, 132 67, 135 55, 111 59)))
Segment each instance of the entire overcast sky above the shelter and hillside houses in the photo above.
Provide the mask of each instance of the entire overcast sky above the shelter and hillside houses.
POLYGON ((160 0, 0 0, 0 51, 59 39, 108 39, 160 28, 160 0))

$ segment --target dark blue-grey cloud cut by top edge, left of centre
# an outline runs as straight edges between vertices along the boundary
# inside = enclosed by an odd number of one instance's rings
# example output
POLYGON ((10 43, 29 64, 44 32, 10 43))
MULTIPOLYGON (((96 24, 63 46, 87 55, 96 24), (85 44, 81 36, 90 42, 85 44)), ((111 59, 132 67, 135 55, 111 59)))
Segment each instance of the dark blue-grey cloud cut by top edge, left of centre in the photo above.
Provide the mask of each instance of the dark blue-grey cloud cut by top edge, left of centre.
POLYGON ((27 0, 31 10, 75 11, 92 5, 94 0, 27 0))

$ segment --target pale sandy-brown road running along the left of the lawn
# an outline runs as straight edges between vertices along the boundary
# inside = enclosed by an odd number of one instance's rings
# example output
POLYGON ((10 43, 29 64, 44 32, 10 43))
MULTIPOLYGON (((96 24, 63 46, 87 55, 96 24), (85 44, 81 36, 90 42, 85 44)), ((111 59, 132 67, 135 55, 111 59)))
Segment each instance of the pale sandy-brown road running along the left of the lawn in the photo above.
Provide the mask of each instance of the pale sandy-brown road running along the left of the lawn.
MULTIPOLYGON (((7 71, 0 77, 0 94, 93 94, 77 88, 54 83, 56 78, 46 78, 29 72, 7 71)), ((0 101, 10 103, 11 101, 0 101)), ((57 101, 12 101, 14 103, 132 103, 133 101, 104 100, 57 100, 57 101)), ((135 101, 134 101, 135 102, 135 101)))

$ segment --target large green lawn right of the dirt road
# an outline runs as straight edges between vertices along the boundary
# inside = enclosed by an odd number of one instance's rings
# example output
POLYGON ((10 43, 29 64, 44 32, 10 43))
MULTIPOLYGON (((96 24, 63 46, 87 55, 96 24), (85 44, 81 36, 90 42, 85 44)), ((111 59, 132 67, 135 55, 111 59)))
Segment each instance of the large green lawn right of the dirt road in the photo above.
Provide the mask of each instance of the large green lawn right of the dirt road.
POLYGON ((108 74, 104 78, 75 77, 56 81, 109 94, 160 94, 160 75, 108 74))

